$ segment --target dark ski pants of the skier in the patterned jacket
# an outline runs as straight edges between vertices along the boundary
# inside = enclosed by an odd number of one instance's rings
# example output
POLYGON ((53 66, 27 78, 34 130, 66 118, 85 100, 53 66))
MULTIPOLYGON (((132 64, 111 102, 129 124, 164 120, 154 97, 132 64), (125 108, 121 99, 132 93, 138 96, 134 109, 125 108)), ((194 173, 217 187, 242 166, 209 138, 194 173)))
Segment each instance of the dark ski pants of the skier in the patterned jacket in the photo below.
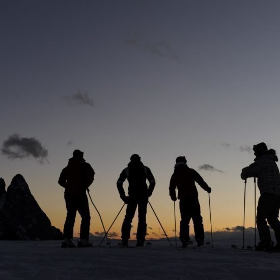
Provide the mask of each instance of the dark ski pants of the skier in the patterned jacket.
POLYGON ((262 193, 257 207, 257 227, 261 242, 271 242, 269 227, 273 229, 276 242, 280 244, 280 221, 278 220, 280 209, 280 195, 262 193), (267 220, 267 222, 266 222, 267 220))

